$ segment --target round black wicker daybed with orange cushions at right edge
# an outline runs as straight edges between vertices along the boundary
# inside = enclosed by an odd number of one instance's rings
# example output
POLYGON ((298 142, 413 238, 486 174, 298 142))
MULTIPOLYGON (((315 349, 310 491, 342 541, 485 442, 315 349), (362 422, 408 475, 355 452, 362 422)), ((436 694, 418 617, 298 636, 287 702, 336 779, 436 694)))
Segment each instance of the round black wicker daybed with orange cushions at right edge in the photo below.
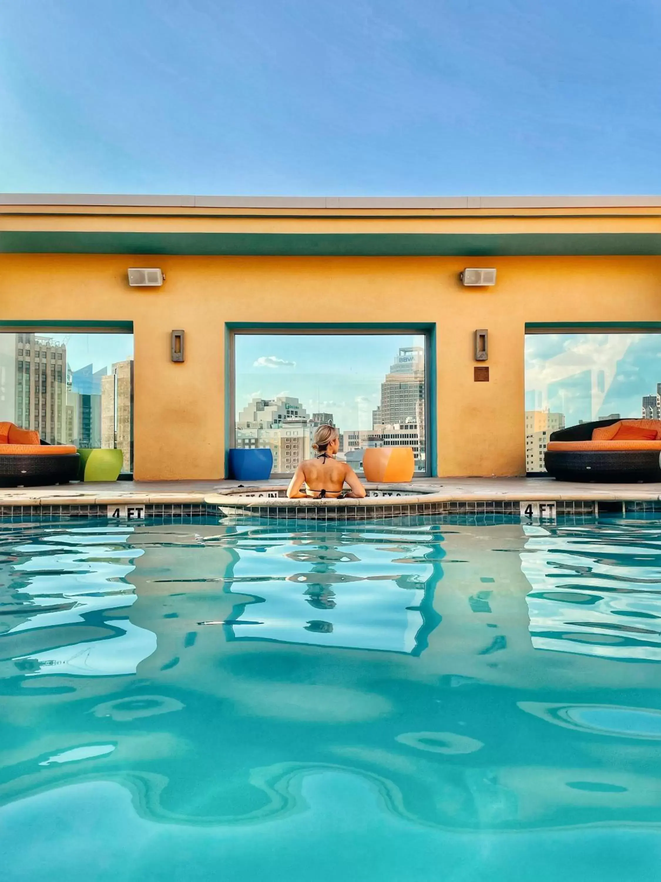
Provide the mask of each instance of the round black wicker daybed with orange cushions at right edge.
POLYGON ((544 464, 558 481, 661 482, 661 421, 598 420, 553 432, 544 464))

